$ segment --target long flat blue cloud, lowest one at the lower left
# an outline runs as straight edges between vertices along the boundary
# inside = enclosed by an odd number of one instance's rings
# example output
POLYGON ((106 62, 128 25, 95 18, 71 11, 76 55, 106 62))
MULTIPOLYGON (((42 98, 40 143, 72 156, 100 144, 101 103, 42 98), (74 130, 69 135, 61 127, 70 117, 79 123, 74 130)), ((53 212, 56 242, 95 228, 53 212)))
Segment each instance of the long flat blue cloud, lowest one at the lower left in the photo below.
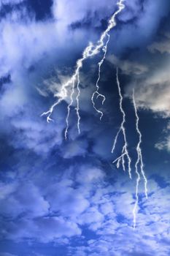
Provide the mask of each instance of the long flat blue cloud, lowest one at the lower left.
POLYGON ((66 236, 80 236, 81 230, 76 223, 63 219, 63 217, 43 217, 36 219, 20 219, 17 223, 7 224, 9 239, 22 241, 31 238, 42 243, 57 241, 66 236))

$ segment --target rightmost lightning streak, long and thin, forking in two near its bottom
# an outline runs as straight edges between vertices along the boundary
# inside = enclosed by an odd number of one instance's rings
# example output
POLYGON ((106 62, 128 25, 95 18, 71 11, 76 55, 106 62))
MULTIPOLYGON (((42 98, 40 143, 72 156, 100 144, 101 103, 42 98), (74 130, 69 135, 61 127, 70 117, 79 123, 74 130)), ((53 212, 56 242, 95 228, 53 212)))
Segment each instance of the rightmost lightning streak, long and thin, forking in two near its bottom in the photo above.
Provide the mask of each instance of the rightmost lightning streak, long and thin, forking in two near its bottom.
POLYGON ((144 164, 143 164, 142 149, 141 149, 142 134, 139 130, 139 116, 138 116, 137 108, 136 108, 136 102, 135 102, 135 97, 134 97, 134 89, 133 89, 133 103, 134 103, 134 111, 135 111, 135 116, 136 116, 136 131, 139 135, 139 142, 136 146, 137 160, 136 160, 136 163, 135 163, 135 171, 136 171, 136 176, 137 176, 137 178, 136 178, 136 202, 135 202, 134 211, 133 211, 133 214, 134 214, 134 229, 135 229, 135 227, 136 227, 136 209, 137 209, 137 206, 138 206, 138 203, 139 203, 139 195, 138 195, 139 181, 141 179, 140 174, 139 174, 139 170, 138 170, 138 165, 140 165, 140 170, 141 170, 142 176, 144 178, 144 192, 145 192, 146 198, 147 198, 147 178, 146 178, 145 173, 144 173, 144 164))

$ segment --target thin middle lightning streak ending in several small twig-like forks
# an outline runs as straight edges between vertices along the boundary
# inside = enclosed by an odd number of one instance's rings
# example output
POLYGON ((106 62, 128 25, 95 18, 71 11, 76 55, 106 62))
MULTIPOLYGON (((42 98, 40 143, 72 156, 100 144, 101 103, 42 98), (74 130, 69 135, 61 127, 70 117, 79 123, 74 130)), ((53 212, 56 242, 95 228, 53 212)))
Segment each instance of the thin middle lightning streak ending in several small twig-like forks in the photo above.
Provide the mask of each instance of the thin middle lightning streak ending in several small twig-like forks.
POLYGON ((123 96, 121 93, 120 89, 120 81, 119 81, 119 76, 118 76, 118 68, 116 69, 116 80, 117 80, 117 87, 118 87, 118 92, 119 92, 119 97, 120 97, 120 112, 123 115, 123 121, 120 125, 120 129, 117 132, 117 135, 115 137, 113 146, 112 146, 112 153, 115 151, 115 146, 117 144, 117 138, 120 135, 120 132, 123 134, 123 140, 124 140, 124 145, 123 149, 121 152, 120 157, 117 157, 113 163, 117 163, 117 168, 120 167, 120 162, 122 162, 123 165, 123 170, 125 171, 125 157, 128 159, 128 175, 131 178, 131 157, 128 154, 128 143, 126 139, 126 132, 125 132, 125 111, 123 110, 123 96))

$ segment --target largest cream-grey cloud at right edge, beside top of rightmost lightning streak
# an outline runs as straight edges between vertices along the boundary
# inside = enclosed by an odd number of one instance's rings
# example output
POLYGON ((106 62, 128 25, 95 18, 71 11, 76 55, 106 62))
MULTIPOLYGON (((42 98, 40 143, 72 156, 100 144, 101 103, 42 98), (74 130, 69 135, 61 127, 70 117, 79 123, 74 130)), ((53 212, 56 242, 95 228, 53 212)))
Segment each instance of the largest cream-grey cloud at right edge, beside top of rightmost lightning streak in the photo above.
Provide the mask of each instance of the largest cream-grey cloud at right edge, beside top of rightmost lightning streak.
MULTIPOLYGON (((135 88, 137 105, 150 109, 162 116, 170 116, 170 87, 169 62, 160 69, 153 69, 145 78, 135 80, 131 86, 135 88)), ((131 92, 129 92, 130 94, 131 92)))

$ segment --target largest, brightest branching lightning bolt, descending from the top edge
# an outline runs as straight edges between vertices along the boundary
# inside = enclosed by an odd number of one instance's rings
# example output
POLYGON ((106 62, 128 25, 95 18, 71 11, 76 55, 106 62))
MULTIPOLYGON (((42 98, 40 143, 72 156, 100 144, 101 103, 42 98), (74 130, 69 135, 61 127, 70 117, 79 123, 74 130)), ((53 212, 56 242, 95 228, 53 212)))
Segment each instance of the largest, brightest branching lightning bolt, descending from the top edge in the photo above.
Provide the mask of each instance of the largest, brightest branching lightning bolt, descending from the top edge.
MULTIPOLYGON (((77 64, 76 64, 76 69, 74 71, 74 74, 72 75, 72 77, 61 86, 61 91, 58 94, 55 94, 55 97, 58 97, 58 100, 50 107, 49 110, 47 110, 46 112, 42 113, 42 116, 47 116, 47 122, 49 123, 50 121, 53 121, 53 119, 51 118, 51 115, 53 113, 54 108, 59 105, 63 99, 66 99, 66 97, 68 96, 68 90, 67 88, 70 86, 70 84, 72 84, 72 94, 70 96, 70 104, 67 108, 68 113, 66 116, 66 130, 65 130, 65 138, 67 138, 67 133, 68 133, 68 129, 69 129, 69 114, 70 114, 70 108, 72 106, 73 103, 73 94, 74 94, 74 83, 77 82, 77 97, 76 97, 76 102, 77 102, 77 107, 76 109, 76 113, 77 113, 77 129, 78 132, 80 133, 80 102, 79 102, 79 98, 80 98, 80 69, 82 68, 82 63, 83 61, 85 61, 86 59, 92 57, 92 56, 96 56, 96 54, 99 52, 99 50, 103 49, 104 50, 104 57, 103 59, 101 59, 101 61, 98 63, 98 80, 96 82, 96 91, 94 92, 94 95, 92 96, 92 100, 93 97, 97 94, 97 97, 102 97, 103 101, 102 103, 104 103, 105 97, 102 94, 99 94, 98 92, 98 81, 100 79, 100 70, 101 70, 101 65, 104 62, 104 59, 106 57, 106 53, 107 53, 107 45, 109 43, 109 31, 114 28, 114 26, 116 26, 116 22, 115 22, 115 18, 116 16, 124 9, 125 5, 123 4, 124 0, 119 0, 117 2, 117 6, 118 6, 118 10, 112 15, 112 17, 109 20, 109 25, 107 26, 107 29, 101 34, 100 39, 98 40, 96 45, 93 45, 93 43, 90 42, 90 44, 88 45, 87 48, 85 48, 85 50, 82 53, 82 58, 77 60, 77 64), (107 42, 104 44, 105 39, 107 38, 107 42)), ((103 113, 98 110, 95 106, 95 103, 93 102, 93 107, 96 109, 96 111, 98 113, 101 114, 101 117, 103 116, 103 113)))

